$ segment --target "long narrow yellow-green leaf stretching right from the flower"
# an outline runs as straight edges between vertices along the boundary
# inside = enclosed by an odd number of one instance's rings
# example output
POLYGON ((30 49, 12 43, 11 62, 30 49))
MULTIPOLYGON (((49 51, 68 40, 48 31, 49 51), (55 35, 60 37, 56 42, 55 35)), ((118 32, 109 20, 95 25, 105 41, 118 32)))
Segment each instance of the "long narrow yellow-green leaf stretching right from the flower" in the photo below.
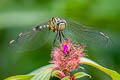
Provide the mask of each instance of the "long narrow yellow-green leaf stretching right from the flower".
POLYGON ((95 67, 95 68, 103 71, 104 73, 109 75, 113 80, 120 80, 120 74, 119 73, 117 73, 114 70, 110 70, 110 69, 107 69, 105 67, 102 67, 101 65, 95 63, 94 61, 92 61, 88 58, 85 58, 85 57, 81 58, 80 63, 90 65, 92 67, 95 67))

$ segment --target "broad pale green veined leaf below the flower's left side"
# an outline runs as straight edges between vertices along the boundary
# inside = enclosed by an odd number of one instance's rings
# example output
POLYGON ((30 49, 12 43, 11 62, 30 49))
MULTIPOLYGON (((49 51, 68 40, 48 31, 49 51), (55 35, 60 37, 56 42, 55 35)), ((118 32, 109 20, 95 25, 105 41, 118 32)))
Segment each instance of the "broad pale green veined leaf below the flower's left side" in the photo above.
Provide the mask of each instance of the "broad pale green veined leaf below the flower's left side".
POLYGON ((51 77, 52 71, 53 71, 52 67, 47 67, 45 69, 42 69, 31 80, 49 80, 51 77))

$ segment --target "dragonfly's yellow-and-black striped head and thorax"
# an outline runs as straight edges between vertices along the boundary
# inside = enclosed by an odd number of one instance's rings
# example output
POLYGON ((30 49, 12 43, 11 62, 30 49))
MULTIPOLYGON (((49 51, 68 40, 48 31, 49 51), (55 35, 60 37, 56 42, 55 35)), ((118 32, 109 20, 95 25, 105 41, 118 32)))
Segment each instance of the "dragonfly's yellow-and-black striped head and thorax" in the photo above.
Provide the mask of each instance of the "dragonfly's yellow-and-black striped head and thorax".
POLYGON ((60 19, 58 17, 52 18, 48 22, 48 28, 50 31, 55 32, 55 31, 63 31, 66 27, 66 21, 64 19, 60 19))

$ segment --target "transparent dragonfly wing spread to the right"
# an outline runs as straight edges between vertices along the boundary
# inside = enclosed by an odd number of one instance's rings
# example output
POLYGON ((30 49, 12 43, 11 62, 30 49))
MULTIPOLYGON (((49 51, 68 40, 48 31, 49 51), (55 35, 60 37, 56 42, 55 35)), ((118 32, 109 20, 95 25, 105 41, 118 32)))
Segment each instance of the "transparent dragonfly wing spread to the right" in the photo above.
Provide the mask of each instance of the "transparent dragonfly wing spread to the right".
POLYGON ((108 46, 112 41, 103 32, 97 31, 91 27, 80 25, 74 21, 67 21, 65 35, 71 37, 79 43, 86 43, 95 46, 108 46))

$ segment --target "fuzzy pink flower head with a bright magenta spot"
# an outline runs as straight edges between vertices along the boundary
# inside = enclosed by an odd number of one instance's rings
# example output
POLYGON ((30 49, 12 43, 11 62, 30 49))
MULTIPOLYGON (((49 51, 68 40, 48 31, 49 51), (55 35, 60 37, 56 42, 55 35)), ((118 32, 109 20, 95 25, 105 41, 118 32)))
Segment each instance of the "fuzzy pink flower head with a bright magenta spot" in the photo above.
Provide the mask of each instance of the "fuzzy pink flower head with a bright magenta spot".
POLYGON ((57 69, 69 76, 70 72, 76 70, 80 64, 80 58, 85 56, 84 45, 73 44, 69 39, 63 40, 58 48, 52 51, 52 61, 57 69))

